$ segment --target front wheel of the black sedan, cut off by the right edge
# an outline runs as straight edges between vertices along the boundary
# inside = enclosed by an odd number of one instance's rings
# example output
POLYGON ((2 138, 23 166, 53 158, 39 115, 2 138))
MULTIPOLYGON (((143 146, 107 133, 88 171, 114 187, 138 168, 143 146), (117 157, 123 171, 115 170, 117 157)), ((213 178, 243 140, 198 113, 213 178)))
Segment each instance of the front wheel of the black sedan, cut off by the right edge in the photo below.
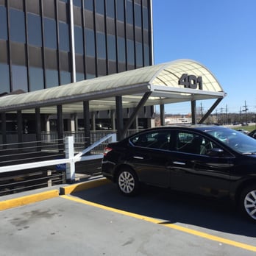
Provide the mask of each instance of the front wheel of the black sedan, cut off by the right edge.
POLYGON ((243 189, 239 206, 241 212, 251 221, 256 221, 256 185, 243 189))

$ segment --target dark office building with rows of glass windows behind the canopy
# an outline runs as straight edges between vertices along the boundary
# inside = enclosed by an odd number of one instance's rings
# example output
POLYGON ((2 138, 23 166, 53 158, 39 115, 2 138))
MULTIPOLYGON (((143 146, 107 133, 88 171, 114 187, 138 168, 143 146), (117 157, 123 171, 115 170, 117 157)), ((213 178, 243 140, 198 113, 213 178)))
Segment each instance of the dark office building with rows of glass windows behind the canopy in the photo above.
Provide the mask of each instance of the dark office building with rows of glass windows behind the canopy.
MULTIPOLYGON (((0 95, 152 63, 151 0, 0 0, 0 95)), ((141 118, 152 113, 149 107, 141 118)), ((7 129, 15 129, 15 115, 7 118, 14 121, 7 129)), ((54 129, 54 115, 43 118, 50 118, 54 129)), ((108 115, 96 113, 96 118, 108 115)), ((24 125, 32 132, 30 119, 24 116, 24 125)))

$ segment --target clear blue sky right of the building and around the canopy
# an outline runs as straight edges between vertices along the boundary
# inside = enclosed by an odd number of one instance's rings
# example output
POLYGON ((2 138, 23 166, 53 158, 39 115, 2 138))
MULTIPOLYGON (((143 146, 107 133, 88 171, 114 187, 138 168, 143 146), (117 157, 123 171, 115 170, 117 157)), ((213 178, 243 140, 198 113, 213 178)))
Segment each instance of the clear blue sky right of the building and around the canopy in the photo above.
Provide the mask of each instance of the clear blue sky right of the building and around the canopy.
MULTIPOLYGON (((227 96, 216 107, 256 112, 256 1, 152 0, 154 64, 191 59, 205 65, 227 96)), ((212 101, 197 102, 206 111, 212 101)), ((216 111, 216 110, 214 110, 216 111)), ((166 113, 190 113, 168 104, 166 113)))

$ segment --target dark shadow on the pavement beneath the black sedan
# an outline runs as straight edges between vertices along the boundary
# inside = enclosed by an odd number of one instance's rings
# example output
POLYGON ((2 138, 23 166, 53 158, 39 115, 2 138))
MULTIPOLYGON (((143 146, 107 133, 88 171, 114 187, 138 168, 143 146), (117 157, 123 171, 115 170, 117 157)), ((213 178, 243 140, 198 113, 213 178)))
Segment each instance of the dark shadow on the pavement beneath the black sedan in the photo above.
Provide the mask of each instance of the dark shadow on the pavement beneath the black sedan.
POLYGON ((110 183, 72 193, 107 207, 235 235, 256 236, 256 222, 247 220, 229 200, 217 200, 144 185, 138 196, 124 196, 110 183))

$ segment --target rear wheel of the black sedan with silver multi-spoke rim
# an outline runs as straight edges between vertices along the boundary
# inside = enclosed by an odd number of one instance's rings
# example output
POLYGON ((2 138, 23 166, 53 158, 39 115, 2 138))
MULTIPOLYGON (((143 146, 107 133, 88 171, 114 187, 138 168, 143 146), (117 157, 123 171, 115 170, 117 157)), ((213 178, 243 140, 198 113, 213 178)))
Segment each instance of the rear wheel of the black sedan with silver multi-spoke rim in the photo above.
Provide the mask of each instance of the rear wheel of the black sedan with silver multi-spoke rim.
POLYGON ((118 172, 117 185, 125 196, 135 196, 140 186, 137 174, 131 168, 122 168, 118 172))

